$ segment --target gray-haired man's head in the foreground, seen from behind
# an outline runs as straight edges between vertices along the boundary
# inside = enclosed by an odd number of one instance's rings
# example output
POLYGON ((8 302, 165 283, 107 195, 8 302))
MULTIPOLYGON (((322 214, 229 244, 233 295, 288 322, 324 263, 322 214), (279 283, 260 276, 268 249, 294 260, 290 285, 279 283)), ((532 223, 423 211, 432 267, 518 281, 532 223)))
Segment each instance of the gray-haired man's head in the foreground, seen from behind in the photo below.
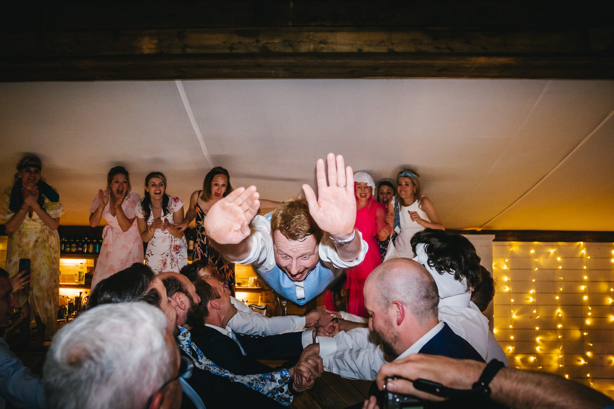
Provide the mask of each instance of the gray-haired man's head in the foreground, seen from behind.
MULTIPOLYGON (((191 362, 189 362, 191 364, 191 362)), ((180 359, 160 308, 99 305, 60 330, 43 370, 51 409, 178 408, 180 359)))

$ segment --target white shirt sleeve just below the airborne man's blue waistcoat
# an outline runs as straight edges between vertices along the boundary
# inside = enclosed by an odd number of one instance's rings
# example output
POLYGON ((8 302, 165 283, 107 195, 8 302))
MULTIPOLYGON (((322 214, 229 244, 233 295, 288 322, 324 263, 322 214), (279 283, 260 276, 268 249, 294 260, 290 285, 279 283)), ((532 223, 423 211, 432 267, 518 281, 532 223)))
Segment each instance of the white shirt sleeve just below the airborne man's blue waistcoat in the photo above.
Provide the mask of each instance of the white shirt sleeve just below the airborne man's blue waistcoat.
POLYGON ((230 318, 228 326, 237 334, 276 335, 285 334, 286 332, 298 332, 305 328, 304 316, 268 317, 255 312, 235 297, 230 297, 230 302, 235 305, 238 312, 233 318, 230 318))

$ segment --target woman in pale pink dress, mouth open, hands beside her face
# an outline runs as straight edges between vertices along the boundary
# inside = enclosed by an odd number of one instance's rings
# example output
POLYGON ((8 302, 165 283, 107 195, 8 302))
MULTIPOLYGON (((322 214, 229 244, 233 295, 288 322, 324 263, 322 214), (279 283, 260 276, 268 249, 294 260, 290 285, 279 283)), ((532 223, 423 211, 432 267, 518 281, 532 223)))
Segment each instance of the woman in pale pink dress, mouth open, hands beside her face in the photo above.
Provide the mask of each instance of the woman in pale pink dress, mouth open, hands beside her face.
POLYGON ((134 223, 134 208, 140 201, 141 196, 130 191, 128 170, 123 166, 109 170, 107 189, 98 191, 90 208, 91 227, 98 226, 103 218, 107 222, 91 289, 101 280, 143 261, 143 241, 134 223))

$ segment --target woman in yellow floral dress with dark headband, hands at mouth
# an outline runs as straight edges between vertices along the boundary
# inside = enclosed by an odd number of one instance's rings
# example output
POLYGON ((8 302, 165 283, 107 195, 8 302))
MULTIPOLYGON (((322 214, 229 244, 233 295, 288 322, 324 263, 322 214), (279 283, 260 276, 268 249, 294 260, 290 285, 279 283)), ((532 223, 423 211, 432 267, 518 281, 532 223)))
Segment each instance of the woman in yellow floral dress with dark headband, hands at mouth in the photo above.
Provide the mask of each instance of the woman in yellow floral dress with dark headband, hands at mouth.
POLYGON ((58 226, 64 207, 60 196, 41 179, 41 159, 26 156, 17 164, 15 183, 0 198, 0 223, 9 234, 6 270, 15 275, 19 259, 30 259, 31 282, 15 292, 23 321, 23 342, 29 344, 31 313, 36 319, 36 340, 42 346, 57 329, 60 286, 60 237, 58 226))

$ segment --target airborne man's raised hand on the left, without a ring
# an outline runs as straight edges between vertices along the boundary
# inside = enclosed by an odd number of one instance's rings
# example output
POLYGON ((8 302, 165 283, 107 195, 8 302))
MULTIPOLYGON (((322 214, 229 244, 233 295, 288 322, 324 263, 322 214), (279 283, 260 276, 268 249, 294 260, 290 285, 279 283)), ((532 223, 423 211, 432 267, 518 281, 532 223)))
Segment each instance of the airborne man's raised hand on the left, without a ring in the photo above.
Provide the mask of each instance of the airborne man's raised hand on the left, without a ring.
POLYGON ((250 234, 249 223, 258 213, 256 186, 238 188, 212 205, 204 218, 209 239, 219 244, 238 244, 250 234))

